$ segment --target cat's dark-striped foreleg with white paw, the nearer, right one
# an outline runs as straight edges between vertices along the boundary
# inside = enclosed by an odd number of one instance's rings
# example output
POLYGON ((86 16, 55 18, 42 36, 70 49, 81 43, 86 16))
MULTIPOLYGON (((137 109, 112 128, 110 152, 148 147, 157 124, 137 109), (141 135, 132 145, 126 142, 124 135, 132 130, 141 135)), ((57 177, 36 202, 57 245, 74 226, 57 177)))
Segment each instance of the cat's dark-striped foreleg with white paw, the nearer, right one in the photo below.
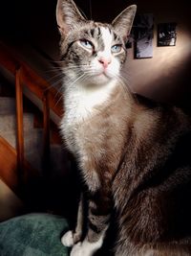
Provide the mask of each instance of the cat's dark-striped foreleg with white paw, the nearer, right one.
POLYGON ((71 256, 93 256, 95 254, 103 244, 109 226, 110 213, 109 198, 100 196, 90 199, 87 235, 82 243, 74 244, 71 256))

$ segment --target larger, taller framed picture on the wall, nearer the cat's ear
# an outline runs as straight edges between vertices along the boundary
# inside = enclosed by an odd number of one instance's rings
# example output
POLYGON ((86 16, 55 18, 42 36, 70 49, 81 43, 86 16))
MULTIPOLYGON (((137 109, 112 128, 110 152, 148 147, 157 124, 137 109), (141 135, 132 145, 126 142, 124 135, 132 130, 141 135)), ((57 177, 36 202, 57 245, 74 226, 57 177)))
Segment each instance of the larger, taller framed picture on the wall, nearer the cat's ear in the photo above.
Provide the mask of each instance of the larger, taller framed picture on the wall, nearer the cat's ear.
POLYGON ((138 14, 135 20, 135 58, 153 57, 153 28, 152 13, 138 14))

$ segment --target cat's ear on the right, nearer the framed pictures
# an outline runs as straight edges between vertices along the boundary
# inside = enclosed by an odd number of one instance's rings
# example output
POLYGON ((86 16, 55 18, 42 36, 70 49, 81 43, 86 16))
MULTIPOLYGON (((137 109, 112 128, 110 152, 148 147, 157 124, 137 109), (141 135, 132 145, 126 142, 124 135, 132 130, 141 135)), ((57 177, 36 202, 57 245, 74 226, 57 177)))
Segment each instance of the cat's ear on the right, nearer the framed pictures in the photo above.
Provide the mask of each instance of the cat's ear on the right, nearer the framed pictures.
POLYGON ((113 27, 124 40, 126 40, 127 36, 131 33, 136 11, 137 6, 132 5, 126 8, 123 12, 120 12, 112 22, 113 27))

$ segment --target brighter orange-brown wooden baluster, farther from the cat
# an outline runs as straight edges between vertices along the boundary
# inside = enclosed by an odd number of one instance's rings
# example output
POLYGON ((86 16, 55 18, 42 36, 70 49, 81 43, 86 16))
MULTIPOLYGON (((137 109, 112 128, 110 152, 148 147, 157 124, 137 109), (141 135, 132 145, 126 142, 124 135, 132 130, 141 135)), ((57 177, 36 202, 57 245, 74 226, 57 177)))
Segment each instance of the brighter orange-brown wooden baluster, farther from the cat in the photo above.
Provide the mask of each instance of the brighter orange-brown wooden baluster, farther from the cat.
POLYGON ((23 128, 23 86, 20 82, 21 68, 16 69, 16 124, 17 124, 17 170, 18 182, 22 183, 24 178, 24 128, 23 128))

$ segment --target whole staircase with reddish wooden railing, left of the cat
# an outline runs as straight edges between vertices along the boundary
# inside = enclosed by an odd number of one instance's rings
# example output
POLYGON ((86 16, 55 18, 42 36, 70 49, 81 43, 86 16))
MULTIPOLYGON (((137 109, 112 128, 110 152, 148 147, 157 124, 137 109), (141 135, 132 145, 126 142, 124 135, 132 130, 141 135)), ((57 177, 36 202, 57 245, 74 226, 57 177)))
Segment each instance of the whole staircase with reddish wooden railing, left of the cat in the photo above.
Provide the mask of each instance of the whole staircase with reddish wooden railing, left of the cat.
POLYGON ((57 129, 63 106, 55 104, 55 97, 61 99, 61 95, 0 42, 1 74, 13 93, 2 90, 7 88, 4 81, 0 84, 0 221, 23 209, 69 217, 78 181, 71 172, 74 161, 64 150, 57 129))

